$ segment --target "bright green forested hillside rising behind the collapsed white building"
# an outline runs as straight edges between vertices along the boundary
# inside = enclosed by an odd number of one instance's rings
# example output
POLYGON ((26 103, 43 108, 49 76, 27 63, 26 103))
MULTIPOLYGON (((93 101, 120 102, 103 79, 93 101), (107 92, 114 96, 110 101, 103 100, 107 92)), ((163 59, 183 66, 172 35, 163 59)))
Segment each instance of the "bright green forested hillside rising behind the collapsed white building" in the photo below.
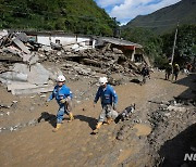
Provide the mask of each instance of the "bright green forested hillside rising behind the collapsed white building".
POLYGON ((0 0, 0 29, 113 35, 114 21, 93 0, 0 0))

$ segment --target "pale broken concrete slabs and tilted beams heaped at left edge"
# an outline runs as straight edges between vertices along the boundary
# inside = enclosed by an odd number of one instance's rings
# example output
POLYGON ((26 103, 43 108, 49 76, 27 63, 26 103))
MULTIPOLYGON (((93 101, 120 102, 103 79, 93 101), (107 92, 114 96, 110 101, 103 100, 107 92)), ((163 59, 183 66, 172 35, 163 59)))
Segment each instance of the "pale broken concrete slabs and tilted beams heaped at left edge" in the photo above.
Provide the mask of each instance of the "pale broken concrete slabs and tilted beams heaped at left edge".
POLYGON ((0 35, 0 81, 12 94, 29 94, 52 91, 52 80, 62 74, 59 69, 49 72, 39 61, 24 33, 3 31, 0 35))

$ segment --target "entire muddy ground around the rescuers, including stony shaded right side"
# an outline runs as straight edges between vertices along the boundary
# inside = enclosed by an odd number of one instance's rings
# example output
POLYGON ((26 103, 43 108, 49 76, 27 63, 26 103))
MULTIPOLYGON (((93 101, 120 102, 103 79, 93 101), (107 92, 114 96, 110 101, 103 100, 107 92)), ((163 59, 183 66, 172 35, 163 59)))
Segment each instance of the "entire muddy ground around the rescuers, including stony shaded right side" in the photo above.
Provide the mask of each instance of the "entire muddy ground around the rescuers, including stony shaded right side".
POLYGON ((155 72, 144 86, 115 86, 118 111, 133 103, 136 111, 130 120, 103 125, 96 136, 90 132, 101 110, 100 103, 93 107, 97 78, 71 80, 65 75, 75 95, 75 120, 65 117, 56 133, 58 105, 54 100, 45 105, 50 93, 13 97, 0 87, 1 166, 194 166, 183 160, 184 153, 194 152, 196 137, 194 74, 171 82, 155 72), (172 103, 185 110, 168 111, 172 103))

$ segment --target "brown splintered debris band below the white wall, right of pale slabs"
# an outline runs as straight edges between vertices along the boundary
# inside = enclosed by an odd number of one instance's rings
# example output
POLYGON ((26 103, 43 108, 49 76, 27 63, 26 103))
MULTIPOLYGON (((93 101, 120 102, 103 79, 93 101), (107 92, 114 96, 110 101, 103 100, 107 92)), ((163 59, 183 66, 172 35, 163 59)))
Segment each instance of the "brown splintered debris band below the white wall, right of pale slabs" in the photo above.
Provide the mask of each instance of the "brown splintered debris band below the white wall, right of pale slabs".
POLYGON ((64 50, 48 51, 44 52, 42 55, 45 57, 44 60, 48 60, 50 62, 77 62, 79 64, 89 66, 91 69, 95 69, 98 73, 105 74, 122 73, 127 76, 133 76, 135 75, 135 70, 139 70, 139 68, 134 65, 134 63, 132 63, 123 53, 113 52, 112 49, 105 52, 98 49, 73 52, 65 52, 64 50))

